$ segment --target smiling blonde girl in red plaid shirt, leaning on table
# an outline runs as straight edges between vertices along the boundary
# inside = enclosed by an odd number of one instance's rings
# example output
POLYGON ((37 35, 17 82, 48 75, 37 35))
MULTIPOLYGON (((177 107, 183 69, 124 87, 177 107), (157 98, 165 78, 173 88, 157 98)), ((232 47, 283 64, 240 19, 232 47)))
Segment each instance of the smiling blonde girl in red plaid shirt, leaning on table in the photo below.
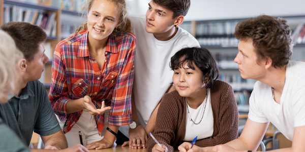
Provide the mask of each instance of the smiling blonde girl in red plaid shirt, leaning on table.
POLYGON ((85 7, 87 21, 55 49, 49 98, 69 146, 81 142, 81 133, 88 149, 101 149, 132 122, 136 39, 124 0, 85 7))

